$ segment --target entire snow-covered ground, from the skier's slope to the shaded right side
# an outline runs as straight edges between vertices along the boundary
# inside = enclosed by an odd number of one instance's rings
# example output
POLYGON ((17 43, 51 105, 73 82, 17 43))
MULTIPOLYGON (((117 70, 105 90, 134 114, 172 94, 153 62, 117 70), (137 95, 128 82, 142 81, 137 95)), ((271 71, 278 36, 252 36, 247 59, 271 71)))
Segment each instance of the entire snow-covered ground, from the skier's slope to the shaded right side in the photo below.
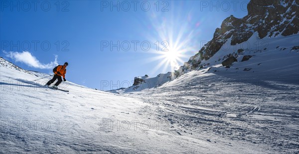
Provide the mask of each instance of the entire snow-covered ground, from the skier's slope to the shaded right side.
POLYGON ((245 50, 253 57, 230 68, 211 58, 123 94, 68 81, 60 88, 70 92, 52 90, 42 87, 49 77, 32 81, 47 75, 0 59, 0 152, 299 153, 296 44, 298 35, 272 38, 268 50, 245 50))

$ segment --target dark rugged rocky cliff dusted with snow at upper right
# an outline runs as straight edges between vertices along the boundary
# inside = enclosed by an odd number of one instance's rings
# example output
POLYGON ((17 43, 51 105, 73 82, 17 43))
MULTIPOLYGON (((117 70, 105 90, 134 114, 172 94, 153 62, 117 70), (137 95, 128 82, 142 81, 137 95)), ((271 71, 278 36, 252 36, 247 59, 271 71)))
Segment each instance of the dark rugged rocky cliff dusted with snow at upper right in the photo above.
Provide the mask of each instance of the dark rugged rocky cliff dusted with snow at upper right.
POLYGON ((214 32, 213 39, 187 63, 175 72, 177 76, 200 67, 202 60, 210 59, 231 38, 231 45, 247 41, 254 32, 259 37, 289 36, 299 29, 299 0, 251 0, 248 15, 226 18, 214 32))

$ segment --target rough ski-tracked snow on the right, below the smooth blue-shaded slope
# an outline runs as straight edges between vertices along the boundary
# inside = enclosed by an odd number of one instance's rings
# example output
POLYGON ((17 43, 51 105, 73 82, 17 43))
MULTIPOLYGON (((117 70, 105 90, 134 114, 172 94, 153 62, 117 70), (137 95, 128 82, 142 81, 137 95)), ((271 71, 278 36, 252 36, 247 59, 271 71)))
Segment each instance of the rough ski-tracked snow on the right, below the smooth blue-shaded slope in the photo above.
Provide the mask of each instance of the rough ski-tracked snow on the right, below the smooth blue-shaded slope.
MULTIPOLYGON (((172 131, 192 138, 206 138, 215 141, 215 145, 220 137, 222 142, 238 141, 233 147, 259 145, 263 147, 262 153, 298 152, 298 84, 273 89, 271 86, 276 83, 254 85, 252 80, 251 85, 250 81, 244 85, 229 78, 219 79, 217 75, 182 78, 177 83, 172 82, 175 86, 169 83, 136 95, 155 106, 152 112, 158 112, 149 116, 168 120, 172 131), (202 85, 195 88, 196 84, 191 85, 198 81, 221 82, 228 87, 202 85)), ((259 149, 256 150, 259 153, 259 149)))

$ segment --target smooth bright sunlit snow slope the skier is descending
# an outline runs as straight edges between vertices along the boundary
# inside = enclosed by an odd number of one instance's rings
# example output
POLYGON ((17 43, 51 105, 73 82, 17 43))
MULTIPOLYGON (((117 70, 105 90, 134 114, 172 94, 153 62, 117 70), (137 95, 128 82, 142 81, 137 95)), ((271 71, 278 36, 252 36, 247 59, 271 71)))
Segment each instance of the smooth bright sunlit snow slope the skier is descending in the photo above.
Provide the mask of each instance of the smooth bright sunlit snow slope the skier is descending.
POLYGON ((40 77, 4 59, 1 64, 7 64, 0 66, 1 153, 261 152, 231 149, 228 141, 214 149, 206 136, 174 131, 168 120, 152 118, 156 106, 139 97, 71 82, 60 86, 70 92, 52 90, 41 86, 49 78, 33 82, 40 77))

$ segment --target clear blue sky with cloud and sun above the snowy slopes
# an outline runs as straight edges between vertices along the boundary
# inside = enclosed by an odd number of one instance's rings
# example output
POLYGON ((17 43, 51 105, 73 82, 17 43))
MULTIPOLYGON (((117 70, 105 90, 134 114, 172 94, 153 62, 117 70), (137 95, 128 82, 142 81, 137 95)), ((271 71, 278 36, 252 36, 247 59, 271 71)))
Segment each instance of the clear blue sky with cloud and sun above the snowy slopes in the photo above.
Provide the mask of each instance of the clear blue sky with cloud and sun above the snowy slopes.
POLYGON ((247 3, 1 0, 0 55, 44 73, 68 62, 66 79, 72 82, 103 90, 127 87, 121 83, 155 77, 188 61, 226 17, 247 15, 247 3), (169 58, 165 49, 176 57, 169 58))

